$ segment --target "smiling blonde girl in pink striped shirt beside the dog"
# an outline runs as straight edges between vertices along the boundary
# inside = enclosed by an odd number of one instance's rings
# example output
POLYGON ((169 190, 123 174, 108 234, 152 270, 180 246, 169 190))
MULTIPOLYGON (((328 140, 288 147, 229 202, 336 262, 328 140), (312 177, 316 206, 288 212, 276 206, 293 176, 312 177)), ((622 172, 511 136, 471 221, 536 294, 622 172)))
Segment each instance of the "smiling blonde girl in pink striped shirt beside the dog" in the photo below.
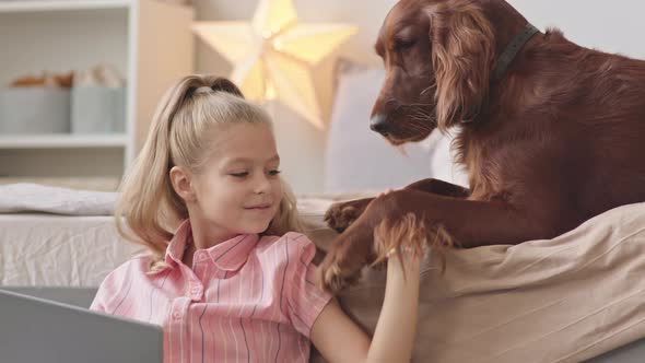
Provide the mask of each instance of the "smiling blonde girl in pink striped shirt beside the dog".
POLYGON ((420 254, 390 254, 370 341, 316 288, 315 246, 297 233, 279 164, 262 108, 225 79, 181 79, 157 108, 116 212, 119 232, 152 257, 109 273, 91 308, 161 325, 164 362, 307 362, 309 342, 329 362, 409 361, 420 254))

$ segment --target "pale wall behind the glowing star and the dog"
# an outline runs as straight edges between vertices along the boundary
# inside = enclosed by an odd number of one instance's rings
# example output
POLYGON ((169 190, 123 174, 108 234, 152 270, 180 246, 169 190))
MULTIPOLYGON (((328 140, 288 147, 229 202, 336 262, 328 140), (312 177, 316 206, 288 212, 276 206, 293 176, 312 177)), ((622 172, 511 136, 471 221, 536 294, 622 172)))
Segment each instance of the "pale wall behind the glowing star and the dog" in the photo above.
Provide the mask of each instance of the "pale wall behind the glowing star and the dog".
MULTIPOLYGON (((248 20, 257 0, 194 0, 197 17, 202 21, 248 20)), ((645 2, 613 0, 509 0, 540 30, 560 27, 566 37, 587 46, 628 56, 645 58, 645 2)), ((347 22, 360 26, 360 33, 340 49, 343 58, 379 67, 372 50, 378 30, 396 0, 294 0, 303 22, 347 22)), ((213 50, 197 44, 198 72, 228 74, 231 67, 213 50)), ((297 192, 316 192, 322 188, 325 138, 280 106, 273 107, 277 138, 283 160, 282 168, 297 192)), ((365 110, 367 117, 370 109, 365 110)), ((360 120, 356 120, 360 121, 360 120)), ((368 131, 366 131, 368 132, 368 131)))

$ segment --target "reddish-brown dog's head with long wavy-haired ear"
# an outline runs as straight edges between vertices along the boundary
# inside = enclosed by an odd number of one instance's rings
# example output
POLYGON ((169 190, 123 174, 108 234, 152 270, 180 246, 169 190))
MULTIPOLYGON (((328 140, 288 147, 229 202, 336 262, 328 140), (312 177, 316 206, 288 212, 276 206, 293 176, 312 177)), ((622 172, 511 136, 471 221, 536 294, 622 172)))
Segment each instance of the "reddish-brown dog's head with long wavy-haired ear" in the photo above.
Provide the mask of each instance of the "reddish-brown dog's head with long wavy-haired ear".
POLYGON ((420 141, 479 114, 495 52, 480 1, 400 0, 375 49, 386 78, 370 122, 390 143, 420 141))

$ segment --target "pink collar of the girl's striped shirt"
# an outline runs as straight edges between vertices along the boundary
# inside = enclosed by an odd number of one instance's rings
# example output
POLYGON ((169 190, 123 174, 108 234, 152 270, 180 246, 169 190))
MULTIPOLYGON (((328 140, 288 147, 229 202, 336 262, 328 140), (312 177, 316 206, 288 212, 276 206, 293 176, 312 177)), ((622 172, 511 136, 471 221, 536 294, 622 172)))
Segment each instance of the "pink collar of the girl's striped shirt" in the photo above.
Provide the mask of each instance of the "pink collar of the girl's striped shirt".
MULTIPOLYGON (((169 266, 181 264, 188 241, 192 236, 190 221, 184 221, 166 248, 165 261, 169 266)), ((259 241, 257 234, 241 234, 206 249, 215 266, 225 271, 237 271, 247 260, 259 241)))

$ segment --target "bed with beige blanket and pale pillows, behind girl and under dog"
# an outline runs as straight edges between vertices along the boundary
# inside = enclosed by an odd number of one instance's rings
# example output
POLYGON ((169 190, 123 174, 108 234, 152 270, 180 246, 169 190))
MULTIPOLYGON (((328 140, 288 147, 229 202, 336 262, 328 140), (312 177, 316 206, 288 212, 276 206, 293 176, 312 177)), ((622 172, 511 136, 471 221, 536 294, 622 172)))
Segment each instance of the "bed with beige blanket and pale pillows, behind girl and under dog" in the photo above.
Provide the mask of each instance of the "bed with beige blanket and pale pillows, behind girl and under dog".
MULTIPOLYGON (((449 162, 449 138, 433 136, 406 157, 351 121, 370 108, 382 78, 382 70, 350 69, 339 80, 326 194, 298 197, 321 250, 336 236, 322 223, 336 200, 429 176, 465 183, 449 162), (385 165, 395 173, 384 174, 385 165)), ((105 274, 141 253, 116 233, 115 198, 0 186, 0 289, 89 306, 105 274)), ((445 273, 429 256, 423 271, 414 362, 645 362, 645 203, 608 211, 554 239, 456 251, 445 273)), ((365 269, 340 296, 366 330, 378 316, 382 273, 365 269)))

